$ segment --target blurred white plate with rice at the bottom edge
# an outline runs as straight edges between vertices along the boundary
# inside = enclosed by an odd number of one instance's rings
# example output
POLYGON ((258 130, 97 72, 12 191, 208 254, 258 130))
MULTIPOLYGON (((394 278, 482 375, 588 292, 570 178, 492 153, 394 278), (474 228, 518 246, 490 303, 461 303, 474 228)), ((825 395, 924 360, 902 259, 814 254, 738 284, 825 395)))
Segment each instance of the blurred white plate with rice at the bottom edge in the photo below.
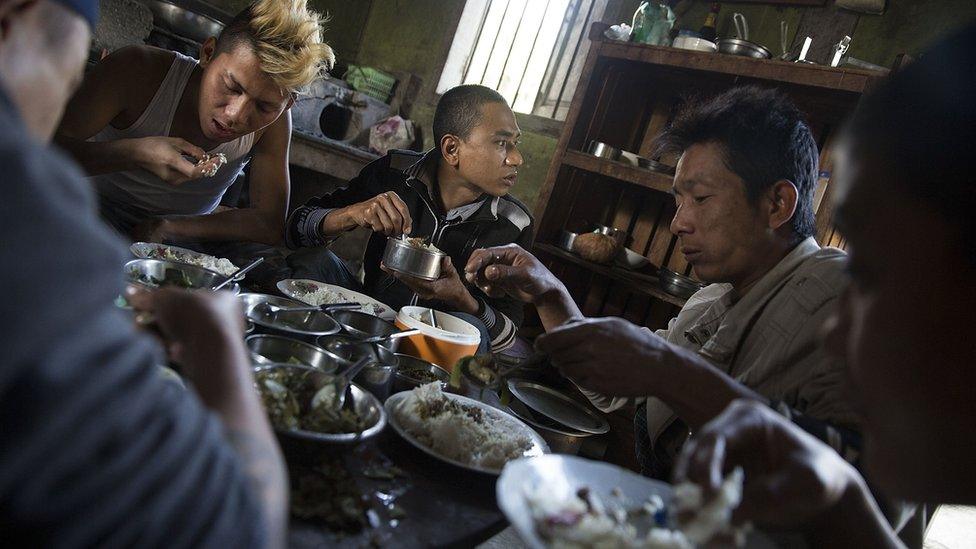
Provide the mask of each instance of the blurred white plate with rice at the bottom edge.
POLYGON ((731 524, 743 473, 730 472, 714 496, 698 485, 670 485, 609 463, 548 455, 505 466, 498 506, 533 549, 775 547, 749 525, 731 524))

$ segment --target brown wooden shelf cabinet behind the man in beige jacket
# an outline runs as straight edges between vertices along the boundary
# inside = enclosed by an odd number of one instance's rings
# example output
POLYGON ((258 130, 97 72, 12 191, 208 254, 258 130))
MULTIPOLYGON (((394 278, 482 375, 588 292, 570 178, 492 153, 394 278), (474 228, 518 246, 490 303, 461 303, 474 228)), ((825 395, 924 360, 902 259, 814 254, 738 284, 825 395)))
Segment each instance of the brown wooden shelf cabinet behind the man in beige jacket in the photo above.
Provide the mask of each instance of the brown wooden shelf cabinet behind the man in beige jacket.
MULTIPOLYGON (((650 156, 654 139, 683 101, 757 84, 782 90, 806 113, 821 150, 820 169, 829 172, 843 120, 885 75, 610 41, 603 38, 605 28, 595 23, 590 29, 593 45, 539 196, 534 251, 566 282, 585 314, 657 328, 684 300, 660 290, 653 272, 597 265, 553 245, 564 229, 609 225, 627 231, 628 247, 653 265, 691 274, 669 228, 675 212, 671 176, 589 155, 589 143, 650 156)), ((818 212, 818 239, 843 245, 830 220, 829 184, 822 191, 827 199, 818 212)))

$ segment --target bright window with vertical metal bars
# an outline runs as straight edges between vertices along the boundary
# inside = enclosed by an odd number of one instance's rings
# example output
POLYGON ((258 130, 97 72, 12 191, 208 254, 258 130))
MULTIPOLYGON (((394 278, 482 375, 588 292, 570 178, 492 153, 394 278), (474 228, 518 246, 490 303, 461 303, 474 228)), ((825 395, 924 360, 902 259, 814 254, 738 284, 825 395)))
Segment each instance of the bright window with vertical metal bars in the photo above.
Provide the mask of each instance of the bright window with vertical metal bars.
POLYGON ((565 120, 608 0, 467 0, 437 93, 460 84, 498 90, 512 110, 565 120))

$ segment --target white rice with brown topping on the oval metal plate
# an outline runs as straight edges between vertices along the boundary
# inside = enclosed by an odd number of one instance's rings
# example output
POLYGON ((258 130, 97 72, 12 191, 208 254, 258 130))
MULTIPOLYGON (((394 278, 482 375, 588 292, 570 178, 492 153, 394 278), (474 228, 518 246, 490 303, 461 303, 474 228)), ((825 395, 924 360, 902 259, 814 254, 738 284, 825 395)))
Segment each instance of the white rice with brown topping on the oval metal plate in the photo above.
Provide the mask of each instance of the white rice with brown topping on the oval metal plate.
POLYGON ((410 391, 394 410, 399 425, 436 454, 468 466, 500 469, 522 457, 532 440, 516 420, 505 421, 501 412, 447 397, 440 383, 410 391))

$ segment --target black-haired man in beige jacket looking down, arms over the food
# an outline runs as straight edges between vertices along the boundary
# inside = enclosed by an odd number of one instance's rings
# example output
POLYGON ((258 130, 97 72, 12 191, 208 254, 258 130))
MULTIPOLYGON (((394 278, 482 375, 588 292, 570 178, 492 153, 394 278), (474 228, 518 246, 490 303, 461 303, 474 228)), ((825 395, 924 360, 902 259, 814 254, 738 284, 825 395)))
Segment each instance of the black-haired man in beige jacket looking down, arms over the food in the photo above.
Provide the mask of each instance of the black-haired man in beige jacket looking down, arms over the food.
POLYGON ((681 155, 671 230, 696 274, 713 283, 668 328, 567 323, 582 314, 565 287, 515 247, 473 255, 469 280, 534 303, 548 331, 538 348, 599 408, 639 406, 645 474, 668 478, 689 432, 736 398, 810 425, 856 460, 844 365, 818 344, 846 284, 846 256, 812 236, 818 153, 801 113, 775 91, 737 88, 686 109, 660 145, 681 155))

